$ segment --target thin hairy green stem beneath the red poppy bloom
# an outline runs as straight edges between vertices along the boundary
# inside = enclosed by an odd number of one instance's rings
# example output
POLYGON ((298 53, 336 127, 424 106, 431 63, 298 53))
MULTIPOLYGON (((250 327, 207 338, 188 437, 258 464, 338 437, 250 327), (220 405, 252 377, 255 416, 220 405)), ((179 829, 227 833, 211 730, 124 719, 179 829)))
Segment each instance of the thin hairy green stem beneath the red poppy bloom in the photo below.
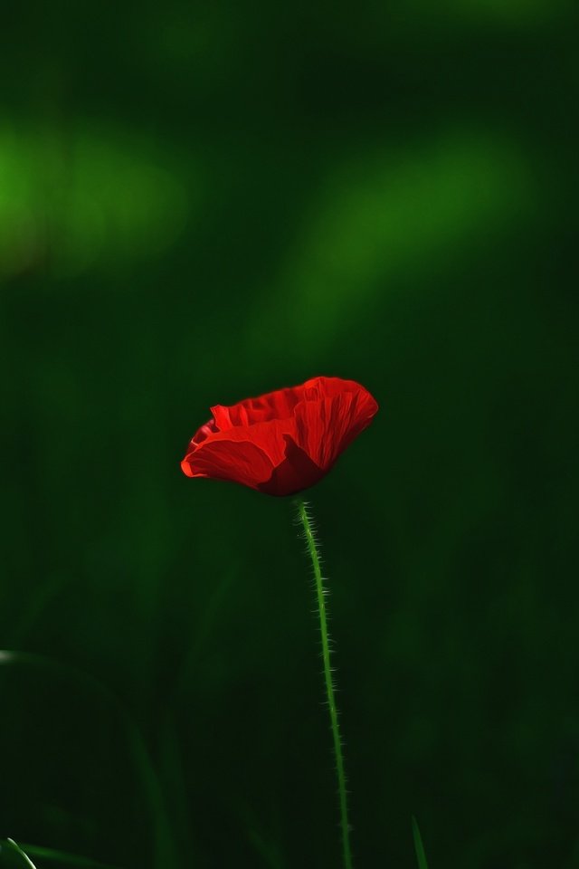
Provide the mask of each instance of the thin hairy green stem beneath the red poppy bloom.
POLYGON ((332 678, 332 668, 330 665, 329 635, 327 633, 327 592, 324 588, 324 580, 322 578, 322 573, 319 566, 318 544, 316 542, 314 530, 312 528, 311 519, 308 515, 308 508, 302 498, 296 498, 296 505, 298 507, 299 520, 303 525, 306 535, 308 552, 311 558, 312 567, 314 568, 316 593, 318 596, 319 633, 321 635, 322 641, 322 659, 324 662, 324 679, 326 682, 327 705, 329 708, 332 737, 334 740, 334 754, 336 757, 337 793, 340 804, 340 826, 342 830, 342 851, 344 854, 345 869, 352 869, 350 827, 347 820, 346 773, 344 771, 342 740, 340 738, 340 728, 337 720, 336 688, 334 686, 334 680, 332 678))

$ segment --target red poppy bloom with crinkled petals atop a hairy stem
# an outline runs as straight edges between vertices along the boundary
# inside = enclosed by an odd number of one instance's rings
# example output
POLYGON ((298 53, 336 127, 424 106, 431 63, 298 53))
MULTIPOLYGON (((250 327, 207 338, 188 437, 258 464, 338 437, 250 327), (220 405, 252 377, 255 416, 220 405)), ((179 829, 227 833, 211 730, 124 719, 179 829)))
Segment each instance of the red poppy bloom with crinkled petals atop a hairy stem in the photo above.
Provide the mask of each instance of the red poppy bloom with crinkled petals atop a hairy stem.
POLYGON ((231 407, 216 405, 181 467, 188 477, 291 495, 321 480, 377 409, 367 389, 339 377, 313 377, 231 407))

